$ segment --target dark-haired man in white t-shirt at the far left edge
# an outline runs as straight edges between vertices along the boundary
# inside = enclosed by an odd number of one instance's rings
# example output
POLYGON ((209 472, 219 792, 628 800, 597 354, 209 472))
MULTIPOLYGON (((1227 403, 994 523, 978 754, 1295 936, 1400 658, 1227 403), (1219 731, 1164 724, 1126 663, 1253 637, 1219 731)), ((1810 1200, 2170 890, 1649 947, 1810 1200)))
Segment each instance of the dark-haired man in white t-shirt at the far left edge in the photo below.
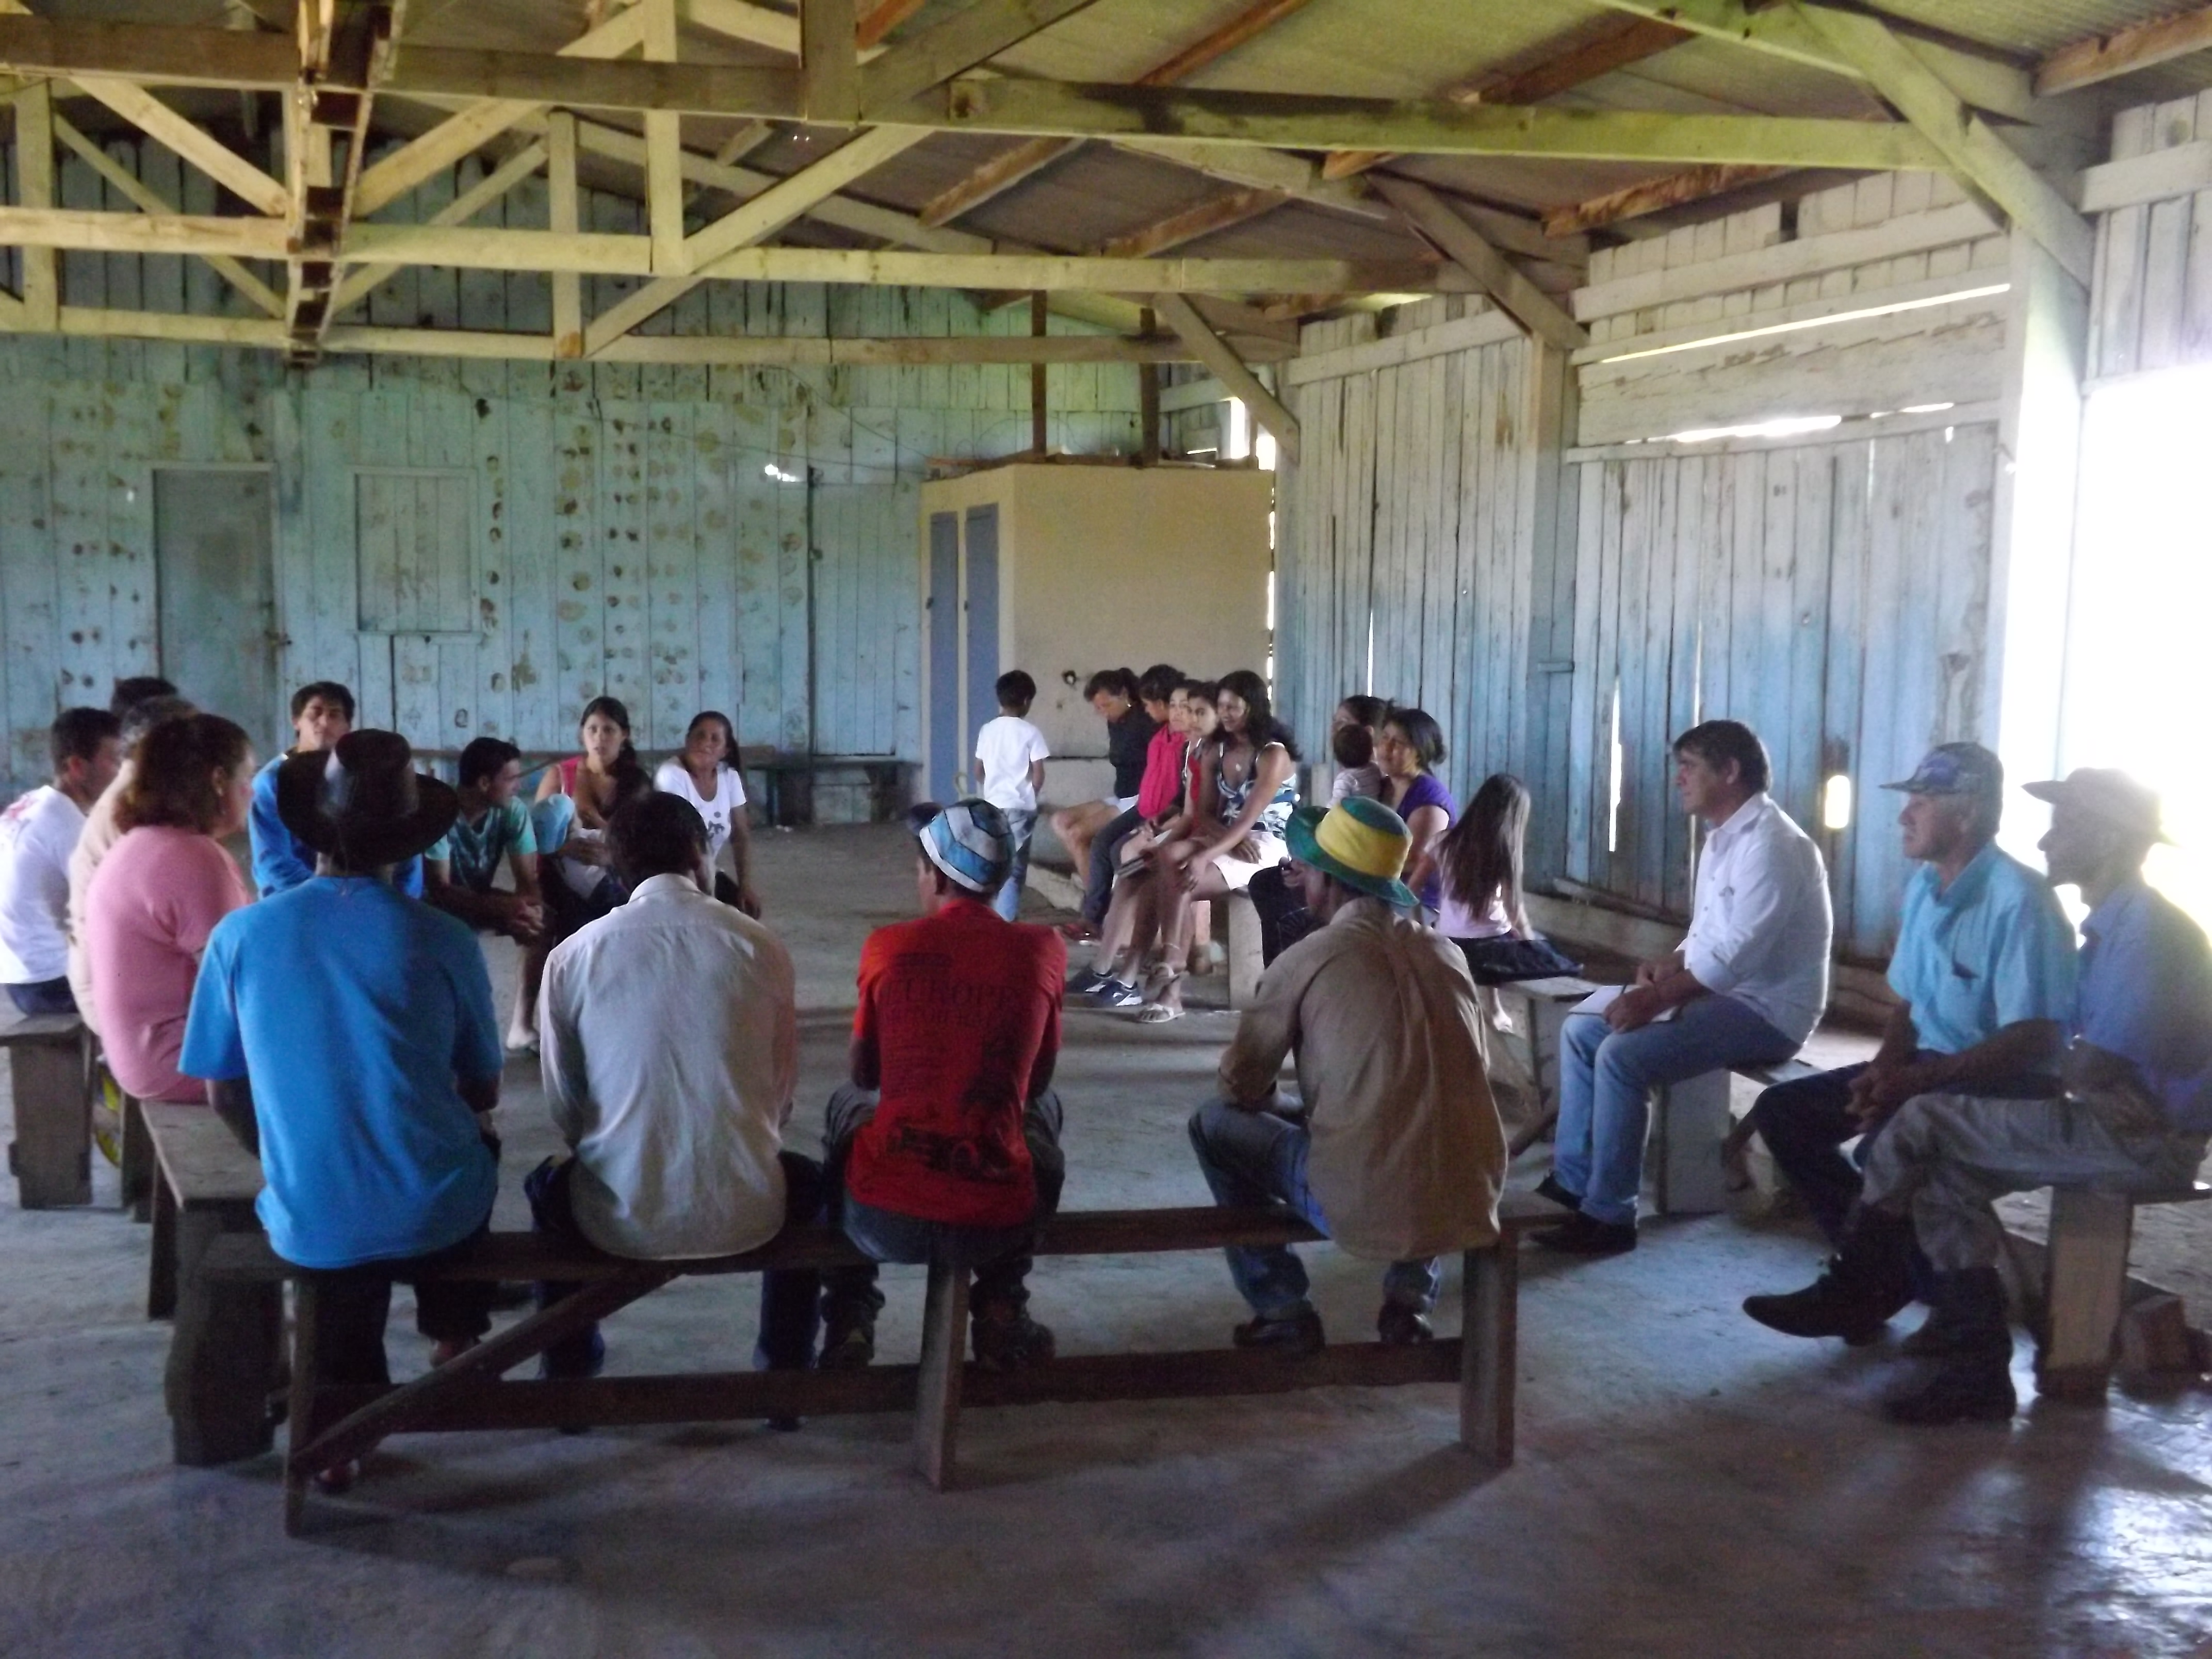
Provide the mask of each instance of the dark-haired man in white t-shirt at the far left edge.
POLYGON ((122 765, 122 721, 66 708, 49 732, 53 783, 0 814, 0 982, 22 1013, 75 1013, 69 991, 69 856, 122 765))

